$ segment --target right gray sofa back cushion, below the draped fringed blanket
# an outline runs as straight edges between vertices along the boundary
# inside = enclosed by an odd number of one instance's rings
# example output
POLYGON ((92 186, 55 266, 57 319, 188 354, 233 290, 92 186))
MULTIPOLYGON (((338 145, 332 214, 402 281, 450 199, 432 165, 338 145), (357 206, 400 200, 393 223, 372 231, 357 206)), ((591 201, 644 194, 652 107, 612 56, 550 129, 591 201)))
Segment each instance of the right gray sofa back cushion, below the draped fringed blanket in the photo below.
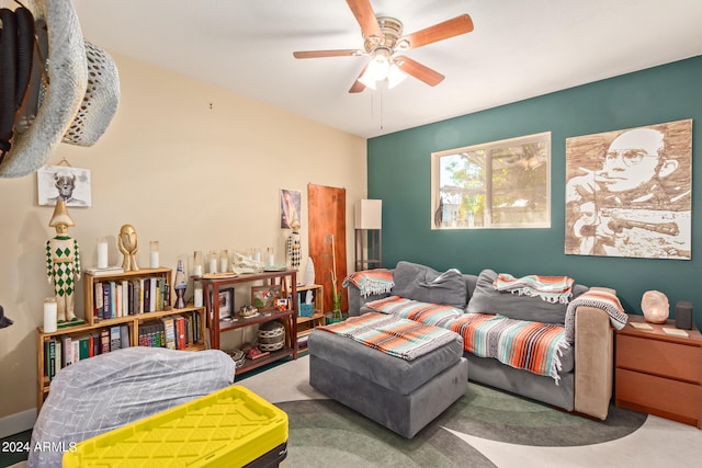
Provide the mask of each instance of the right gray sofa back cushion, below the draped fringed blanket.
MULTIPOLYGON (((492 286, 496 278, 497 273, 492 270, 483 270, 480 272, 475 292, 468 303, 468 313, 499 313, 516 320, 534 320, 555 324, 565 323, 567 304, 552 304, 541 297, 499 292, 492 286)), ((575 284, 570 300, 586 290, 588 290, 587 286, 575 284)))

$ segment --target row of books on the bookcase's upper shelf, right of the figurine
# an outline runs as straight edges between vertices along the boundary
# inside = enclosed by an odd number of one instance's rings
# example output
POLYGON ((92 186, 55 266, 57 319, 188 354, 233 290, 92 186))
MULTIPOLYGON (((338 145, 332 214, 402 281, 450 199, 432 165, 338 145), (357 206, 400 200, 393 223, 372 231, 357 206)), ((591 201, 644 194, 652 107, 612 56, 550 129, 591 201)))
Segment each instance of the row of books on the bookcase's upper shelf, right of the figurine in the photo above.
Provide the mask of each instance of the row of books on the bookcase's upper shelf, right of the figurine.
POLYGON ((95 319, 114 319, 163 310, 170 306, 170 285, 162 277, 94 283, 95 319))

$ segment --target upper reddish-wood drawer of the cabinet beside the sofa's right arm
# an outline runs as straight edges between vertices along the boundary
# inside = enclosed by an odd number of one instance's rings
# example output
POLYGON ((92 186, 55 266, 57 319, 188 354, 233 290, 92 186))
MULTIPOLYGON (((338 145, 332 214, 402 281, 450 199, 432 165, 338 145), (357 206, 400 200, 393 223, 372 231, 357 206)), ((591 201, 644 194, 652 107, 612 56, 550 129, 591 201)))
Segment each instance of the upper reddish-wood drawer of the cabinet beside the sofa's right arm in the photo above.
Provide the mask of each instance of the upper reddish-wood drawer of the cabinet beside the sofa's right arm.
POLYGON ((618 334, 616 367, 702 385, 702 347, 618 334))

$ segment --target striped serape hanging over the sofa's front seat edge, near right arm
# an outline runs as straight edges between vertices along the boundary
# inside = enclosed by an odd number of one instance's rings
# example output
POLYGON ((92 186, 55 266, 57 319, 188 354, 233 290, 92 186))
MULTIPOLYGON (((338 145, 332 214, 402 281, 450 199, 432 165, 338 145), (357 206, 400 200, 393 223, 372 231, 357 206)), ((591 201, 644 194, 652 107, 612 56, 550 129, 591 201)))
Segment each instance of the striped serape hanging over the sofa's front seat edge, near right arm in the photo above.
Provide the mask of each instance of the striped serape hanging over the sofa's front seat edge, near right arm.
POLYGON ((562 349, 569 347, 561 326, 508 319, 499 315, 466 313, 451 324, 463 336, 463 349, 479 357, 530 373, 551 376, 558 385, 562 349))

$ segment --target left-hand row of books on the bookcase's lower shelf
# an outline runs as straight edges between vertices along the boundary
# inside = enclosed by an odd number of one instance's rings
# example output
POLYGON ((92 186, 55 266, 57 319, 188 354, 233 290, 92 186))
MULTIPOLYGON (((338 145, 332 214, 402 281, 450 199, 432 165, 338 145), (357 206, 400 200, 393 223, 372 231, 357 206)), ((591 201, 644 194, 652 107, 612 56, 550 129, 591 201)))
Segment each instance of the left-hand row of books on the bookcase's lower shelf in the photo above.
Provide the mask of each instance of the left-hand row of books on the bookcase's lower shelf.
POLYGON ((52 380, 66 366, 123 347, 129 347, 129 327, 126 324, 79 336, 52 338, 44 342, 44 373, 52 380))

